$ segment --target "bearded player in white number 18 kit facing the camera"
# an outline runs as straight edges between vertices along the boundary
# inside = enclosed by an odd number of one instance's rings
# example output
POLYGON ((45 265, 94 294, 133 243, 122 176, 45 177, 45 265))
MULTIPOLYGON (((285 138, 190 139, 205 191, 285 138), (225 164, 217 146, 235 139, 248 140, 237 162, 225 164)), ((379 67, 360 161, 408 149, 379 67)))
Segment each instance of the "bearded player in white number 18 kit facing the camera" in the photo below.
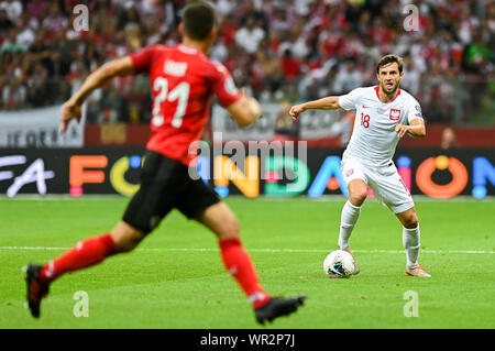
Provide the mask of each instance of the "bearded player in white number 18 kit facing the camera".
POLYGON ((342 156, 341 169, 349 198, 341 215, 339 249, 351 252, 349 240, 370 186, 377 200, 403 224, 406 274, 430 277, 418 264, 420 231, 415 204, 392 161, 397 142, 405 134, 426 135, 421 108, 411 95, 399 88, 404 77, 399 56, 382 57, 376 65, 376 77, 378 86, 293 106, 289 113, 297 120, 308 109, 356 111, 352 136, 342 156))

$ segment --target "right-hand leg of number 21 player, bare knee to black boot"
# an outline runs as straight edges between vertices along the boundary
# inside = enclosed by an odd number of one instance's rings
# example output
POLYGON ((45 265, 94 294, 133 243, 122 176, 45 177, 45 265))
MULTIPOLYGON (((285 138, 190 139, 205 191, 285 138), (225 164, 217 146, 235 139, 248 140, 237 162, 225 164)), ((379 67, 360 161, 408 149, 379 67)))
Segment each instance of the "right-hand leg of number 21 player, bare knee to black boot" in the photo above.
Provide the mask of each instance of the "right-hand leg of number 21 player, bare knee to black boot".
POLYGON ((260 323, 290 315, 304 304, 305 296, 282 298, 271 297, 265 293, 258 282, 253 262, 241 243, 235 216, 226 204, 218 202, 209 206, 197 216, 196 220, 218 237, 223 264, 253 305, 260 323))

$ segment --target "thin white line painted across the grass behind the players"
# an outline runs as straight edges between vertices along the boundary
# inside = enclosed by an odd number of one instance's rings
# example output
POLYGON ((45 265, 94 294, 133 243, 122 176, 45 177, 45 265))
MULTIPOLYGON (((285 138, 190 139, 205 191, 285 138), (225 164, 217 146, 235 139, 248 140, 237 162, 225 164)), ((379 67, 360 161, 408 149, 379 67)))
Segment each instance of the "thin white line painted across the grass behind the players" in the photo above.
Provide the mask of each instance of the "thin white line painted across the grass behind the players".
MULTIPOLYGON (((13 251, 65 251, 70 248, 50 248, 50 246, 0 246, 0 250, 13 251)), ((317 249, 246 249, 249 252, 271 252, 271 253, 328 253, 328 250, 317 249)), ((136 249, 136 251, 183 251, 183 252, 218 252, 219 249, 209 248, 157 248, 157 249, 136 249)), ((354 253, 404 253, 404 250, 352 250, 354 253)), ((421 250, 421 253, 431 254, 493 254, 493 250, 421 250)))

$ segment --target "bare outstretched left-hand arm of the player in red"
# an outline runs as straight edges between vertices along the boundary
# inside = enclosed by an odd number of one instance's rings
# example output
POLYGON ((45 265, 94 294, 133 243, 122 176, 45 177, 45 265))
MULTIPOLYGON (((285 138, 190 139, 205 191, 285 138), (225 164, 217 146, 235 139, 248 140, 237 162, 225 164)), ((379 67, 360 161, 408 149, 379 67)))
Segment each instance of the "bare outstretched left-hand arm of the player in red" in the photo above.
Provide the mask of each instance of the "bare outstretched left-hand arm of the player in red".
POLYGON ((111 61, 92 72, 82 86, 62 106, 61 133, 65 132, 72 119, 80 119, 81 105, 96 88, 101 87, 113 77, 132 74, 134 74, 134 65, 130 56, 111 61))

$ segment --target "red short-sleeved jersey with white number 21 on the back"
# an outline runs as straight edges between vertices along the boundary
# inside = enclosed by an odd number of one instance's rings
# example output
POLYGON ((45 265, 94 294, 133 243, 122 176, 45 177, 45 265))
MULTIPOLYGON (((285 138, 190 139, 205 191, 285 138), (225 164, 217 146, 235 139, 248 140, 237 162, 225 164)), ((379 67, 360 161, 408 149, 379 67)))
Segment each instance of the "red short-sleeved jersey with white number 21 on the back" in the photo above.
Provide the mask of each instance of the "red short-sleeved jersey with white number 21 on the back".
POLYGON ((131 55, 134 70, 147 73, 153 95, 147 150, 185 165, 190 143, 199 140, 210 114, 210 97, 228 107, 241 98, 229 70, 184 45, 154 45, 131 55))

